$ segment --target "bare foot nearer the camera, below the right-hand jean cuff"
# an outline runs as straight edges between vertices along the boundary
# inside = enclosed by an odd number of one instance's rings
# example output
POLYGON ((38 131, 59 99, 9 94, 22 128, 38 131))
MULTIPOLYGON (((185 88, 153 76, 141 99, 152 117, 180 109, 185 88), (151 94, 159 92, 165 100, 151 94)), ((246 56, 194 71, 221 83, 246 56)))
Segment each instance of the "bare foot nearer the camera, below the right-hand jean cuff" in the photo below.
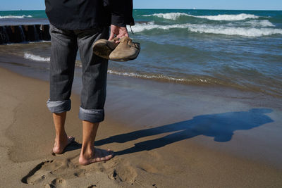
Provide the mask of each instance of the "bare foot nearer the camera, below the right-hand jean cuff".
POLYGON ((108 161, 113 158, 114 151, 105 150, 105 149, 94 149, 94 153, 88 155, 80 153, 79 163, 80 165, 89 165, 91 163, 97 163, 101 161, 108 161))

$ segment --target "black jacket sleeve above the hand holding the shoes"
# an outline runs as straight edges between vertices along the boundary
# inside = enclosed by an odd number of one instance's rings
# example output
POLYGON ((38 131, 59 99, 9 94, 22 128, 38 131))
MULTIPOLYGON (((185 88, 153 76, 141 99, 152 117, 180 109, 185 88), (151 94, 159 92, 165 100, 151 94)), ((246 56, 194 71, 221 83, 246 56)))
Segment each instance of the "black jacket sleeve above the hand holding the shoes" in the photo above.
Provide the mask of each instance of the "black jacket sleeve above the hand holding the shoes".
POLYGON ((111 10, 111 24, 125 27, 134 25, 133 0, 104 0, 104 5, 111 10))

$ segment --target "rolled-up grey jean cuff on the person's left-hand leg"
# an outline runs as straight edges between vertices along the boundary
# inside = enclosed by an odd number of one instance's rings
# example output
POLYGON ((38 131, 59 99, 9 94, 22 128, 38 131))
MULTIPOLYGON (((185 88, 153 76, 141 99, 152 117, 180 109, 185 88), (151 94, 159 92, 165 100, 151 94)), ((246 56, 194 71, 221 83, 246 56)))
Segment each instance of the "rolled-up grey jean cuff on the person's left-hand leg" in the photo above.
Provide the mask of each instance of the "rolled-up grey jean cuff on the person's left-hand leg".
POLYGON ((47 101, 47 107, 51 113, 63 113, 71 110, 71 99, 65 101, 47 101))

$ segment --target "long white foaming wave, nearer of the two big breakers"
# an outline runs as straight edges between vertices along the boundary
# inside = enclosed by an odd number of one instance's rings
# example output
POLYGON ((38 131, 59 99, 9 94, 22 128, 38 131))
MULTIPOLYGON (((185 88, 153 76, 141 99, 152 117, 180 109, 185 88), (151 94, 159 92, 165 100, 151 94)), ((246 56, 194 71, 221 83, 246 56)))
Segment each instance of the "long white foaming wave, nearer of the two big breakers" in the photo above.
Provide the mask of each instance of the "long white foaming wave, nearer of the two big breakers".
POLYGON ((262 37, 269 35, 281 35, 282 29, 275 28, 256 28, 256 27, 226 27, 204 24, 175 24, 175 25, 156 25, 154 23, 136 24, 133 26, 134 32, 143 32, 149 30, 170 30, 170 29, 188 29, 190 32, 238 35, 243 37, 262 37))

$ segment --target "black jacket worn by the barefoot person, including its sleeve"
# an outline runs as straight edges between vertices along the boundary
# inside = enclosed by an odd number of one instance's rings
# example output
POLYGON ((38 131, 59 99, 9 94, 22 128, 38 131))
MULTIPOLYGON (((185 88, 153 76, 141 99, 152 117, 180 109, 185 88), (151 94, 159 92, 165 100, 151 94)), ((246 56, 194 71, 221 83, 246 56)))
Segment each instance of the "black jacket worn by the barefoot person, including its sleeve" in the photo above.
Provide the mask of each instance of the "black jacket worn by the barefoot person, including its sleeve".
POLYGON ((133 0, 45 0, 49 22, 65 30, 134 25, 133 0))

